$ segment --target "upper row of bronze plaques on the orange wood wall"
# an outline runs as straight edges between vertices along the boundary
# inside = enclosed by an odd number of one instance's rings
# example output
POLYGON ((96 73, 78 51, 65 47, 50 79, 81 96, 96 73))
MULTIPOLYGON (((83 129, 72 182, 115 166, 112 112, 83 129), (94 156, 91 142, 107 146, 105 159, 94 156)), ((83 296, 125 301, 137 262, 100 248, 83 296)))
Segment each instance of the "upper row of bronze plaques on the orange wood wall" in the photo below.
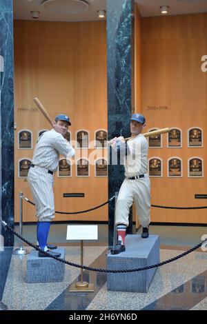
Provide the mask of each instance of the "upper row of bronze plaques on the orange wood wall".
MULTIPOLYGON (((157 130, 157 128, 152 128, 157 130)), ((40 130, 38 136, 40 136, 46 130, 40 130)), ((66 139, 70 141, 71 134, 67 133, 66 139)), ((181 148, 182 147, 182 131, 179 128, 171 128, 167 135, 168 148, 181 148)), ((88 148, 89 145, 89 132, 86 130, 80 130, 76 134, 77 145, 76 148, 88 148)), ((162 147, 162 135, 154 135, 148 137, 149 148, 161 148, 162 147)), ((188 148, 201 148, 203 146, 203 131, 201 128, 190 128, 188 130, 188 148)), ((95 147, 107 148, 107 132, 106 130, 98 130, 95 132, 95 147)), ((18 133, 18 148, 30 149, 32 148, 32 132, 30 130, 21 130, 18 133)))

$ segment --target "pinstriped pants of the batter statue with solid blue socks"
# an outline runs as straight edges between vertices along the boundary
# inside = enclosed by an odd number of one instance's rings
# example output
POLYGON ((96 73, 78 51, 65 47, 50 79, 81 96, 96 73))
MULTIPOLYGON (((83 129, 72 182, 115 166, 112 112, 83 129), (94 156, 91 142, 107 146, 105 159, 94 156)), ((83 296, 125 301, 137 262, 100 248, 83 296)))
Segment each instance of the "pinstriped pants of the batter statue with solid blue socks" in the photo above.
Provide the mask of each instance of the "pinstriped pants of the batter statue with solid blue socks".
POLYGON ((37 165, 28 172, 28 183, 32 191, 39 221, 52 221, 55 218, 53 175, 37 165))

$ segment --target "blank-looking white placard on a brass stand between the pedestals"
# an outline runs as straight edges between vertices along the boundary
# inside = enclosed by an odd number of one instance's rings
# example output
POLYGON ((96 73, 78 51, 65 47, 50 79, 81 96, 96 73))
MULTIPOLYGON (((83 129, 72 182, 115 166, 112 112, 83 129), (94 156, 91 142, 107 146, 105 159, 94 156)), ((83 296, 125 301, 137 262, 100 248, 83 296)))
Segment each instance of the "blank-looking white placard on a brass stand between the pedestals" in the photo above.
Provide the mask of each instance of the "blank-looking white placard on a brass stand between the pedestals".
POLYGON ((98 225, 68 225, 66 240, 97 240, 98 225))

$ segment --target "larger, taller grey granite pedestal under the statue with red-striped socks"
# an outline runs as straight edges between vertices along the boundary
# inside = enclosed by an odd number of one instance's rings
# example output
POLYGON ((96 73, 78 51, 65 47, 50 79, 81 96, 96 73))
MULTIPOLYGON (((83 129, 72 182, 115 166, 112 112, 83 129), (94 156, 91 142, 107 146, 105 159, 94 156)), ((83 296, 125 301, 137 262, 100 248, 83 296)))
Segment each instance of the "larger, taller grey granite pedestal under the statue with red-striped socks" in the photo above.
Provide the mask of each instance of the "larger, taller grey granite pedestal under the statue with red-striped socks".
MULTIPOLYGON (((159 236, 130 234, 125 239, 126 251, 106 256, 107 270, 129 270, 159 263, 159 236)), ((139 272, 107 274, 108 290, 114 292, 148 292, 157 267, 139 272)))

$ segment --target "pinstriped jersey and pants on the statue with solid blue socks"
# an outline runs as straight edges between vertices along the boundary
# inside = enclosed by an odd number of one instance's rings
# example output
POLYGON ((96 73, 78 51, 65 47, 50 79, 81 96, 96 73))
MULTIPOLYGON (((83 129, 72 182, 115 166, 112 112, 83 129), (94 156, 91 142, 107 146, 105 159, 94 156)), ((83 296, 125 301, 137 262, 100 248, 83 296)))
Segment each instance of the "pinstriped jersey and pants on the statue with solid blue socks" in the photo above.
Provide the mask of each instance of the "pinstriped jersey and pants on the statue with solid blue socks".
POLYGON ((55 218, 53 175, 59 165, 59 154, 65 157, 75 155, 75 150, 63 136, 55 130, 44 132, 34 149, 32 164, 28 172, 28 183, 32 191, 39 221, 52 221, 55 218))

